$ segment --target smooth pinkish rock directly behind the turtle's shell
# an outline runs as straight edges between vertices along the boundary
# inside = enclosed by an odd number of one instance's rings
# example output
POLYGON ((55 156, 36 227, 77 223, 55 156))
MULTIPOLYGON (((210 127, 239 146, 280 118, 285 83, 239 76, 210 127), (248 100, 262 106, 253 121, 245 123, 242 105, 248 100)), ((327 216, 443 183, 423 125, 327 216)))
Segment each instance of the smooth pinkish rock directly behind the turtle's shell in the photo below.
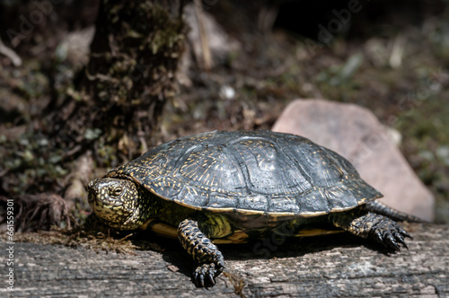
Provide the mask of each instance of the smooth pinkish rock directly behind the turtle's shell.
POLYGON ((383 203, 427 221, 434 219, 434 197, 370 110, 349 103, 296 100, 286 107, 273 130, 330 148, 383 193, 383 203))

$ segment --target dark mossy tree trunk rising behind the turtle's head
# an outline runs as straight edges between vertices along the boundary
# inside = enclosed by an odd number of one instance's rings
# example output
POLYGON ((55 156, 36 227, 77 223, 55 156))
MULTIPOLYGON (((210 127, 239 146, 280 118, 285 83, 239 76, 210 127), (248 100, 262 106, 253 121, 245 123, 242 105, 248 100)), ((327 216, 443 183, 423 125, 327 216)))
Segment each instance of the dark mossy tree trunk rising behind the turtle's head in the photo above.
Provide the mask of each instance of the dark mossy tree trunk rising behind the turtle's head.
POLYGON ((49 105, 59 146, 94 149, 112 161, 147 149, 165 101, 175 95, 181 13, 182 1, 101 1, 89 64, 75 91, 49 105), (118 152, 101 152, 104 145, 118 152))

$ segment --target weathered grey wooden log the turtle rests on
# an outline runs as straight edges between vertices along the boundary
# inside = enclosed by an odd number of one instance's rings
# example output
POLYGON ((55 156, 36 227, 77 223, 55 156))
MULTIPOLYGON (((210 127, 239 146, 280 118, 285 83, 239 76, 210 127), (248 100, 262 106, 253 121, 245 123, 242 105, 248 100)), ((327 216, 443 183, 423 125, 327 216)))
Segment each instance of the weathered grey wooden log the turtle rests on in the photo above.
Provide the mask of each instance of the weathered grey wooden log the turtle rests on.
MULTIPOLYGON (((391 255, 346 234, 287 240, 279 247, 272 242, 220 247, 225 271, 245 282, 247 297, 449 296, 448 227, 410 224, 406 229, 414 237, 409 250, 391 255), (269 252, 269 258, 254 251, 269 252)), ((136 255, 16 243, 14 291, 4 285, 0 296, 239 296, 225 275, 213 288, 196 288, 189 278, 193 264, 180 245, 157 242, 163 252, 136 255)), ((4 276, 4 253, 1 268, 4 276)))

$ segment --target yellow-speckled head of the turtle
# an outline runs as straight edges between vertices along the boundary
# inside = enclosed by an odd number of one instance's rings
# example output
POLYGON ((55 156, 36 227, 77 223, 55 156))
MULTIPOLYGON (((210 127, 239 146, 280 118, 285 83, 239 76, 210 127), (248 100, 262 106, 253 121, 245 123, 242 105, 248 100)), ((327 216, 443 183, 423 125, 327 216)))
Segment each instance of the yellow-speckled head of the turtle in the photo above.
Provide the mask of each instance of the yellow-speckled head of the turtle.
POLYGON ((88 193, 89 205, 103 223, 119 230, 133 230, 142 224, 139 190, 134 181, 94 179, 88 193))

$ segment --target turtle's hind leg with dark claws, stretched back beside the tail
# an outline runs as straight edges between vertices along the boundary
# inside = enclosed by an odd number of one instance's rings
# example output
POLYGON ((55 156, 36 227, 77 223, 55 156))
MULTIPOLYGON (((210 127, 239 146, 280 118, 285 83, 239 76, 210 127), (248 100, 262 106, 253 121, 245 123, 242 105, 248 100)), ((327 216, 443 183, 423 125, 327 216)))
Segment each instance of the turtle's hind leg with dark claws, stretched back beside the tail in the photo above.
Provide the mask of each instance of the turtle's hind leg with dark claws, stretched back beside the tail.
POLYGON ((382 243, 385 248, 394 251, 401 249, 400 244, 408 249, 404 238, 411 238, 398 223, 372 212, 355 210, 349 213, 330 214, 330 223, 357 236, 382 243))

